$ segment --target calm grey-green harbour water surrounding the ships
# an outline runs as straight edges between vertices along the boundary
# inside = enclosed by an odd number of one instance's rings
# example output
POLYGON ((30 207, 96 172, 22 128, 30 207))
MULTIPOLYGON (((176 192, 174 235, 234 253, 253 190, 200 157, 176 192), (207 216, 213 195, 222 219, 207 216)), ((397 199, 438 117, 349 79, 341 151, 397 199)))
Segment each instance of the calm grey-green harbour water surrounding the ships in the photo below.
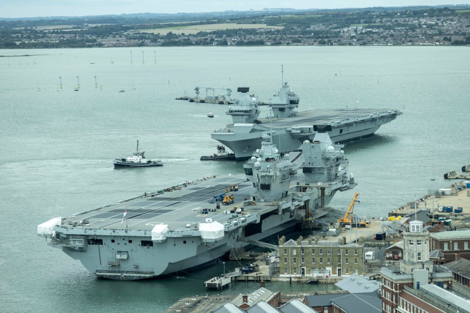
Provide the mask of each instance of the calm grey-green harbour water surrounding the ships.
MULTIPOLYGON (((37 224, 57 216, 203 175, 242 173, 242 163, 199 160, 215 152, 210 133, 230 118, 223 105, 174 100, 193 95, 196 86, 250 87, 267 101, 281 85, 284 65, 300 111, 355 107, 356 99, 362 108, 402 110, 375 136, 344 149, 359 183, 357 209, 370 218, 446 187, 451 181, 443 174, 470 163, 469 47, 109 48, 0 55, 2 312, 163 312, 183 296, 206 293, 202 282, 222 273, 222 263, 179 279, 101 280, 36 234, 37 224), (207 118, 209 111, 216 117, 207 118), (148 158, 165 165, 114 169, 111 160, 131 154, 136 139, 148 158)), ((261 116, 266 114, 263 107, 261 116)), ((353 193, 337 194, 330 206, 346 209, 353 193)), ((224 292, 257 288, 237 283, 224 292)))

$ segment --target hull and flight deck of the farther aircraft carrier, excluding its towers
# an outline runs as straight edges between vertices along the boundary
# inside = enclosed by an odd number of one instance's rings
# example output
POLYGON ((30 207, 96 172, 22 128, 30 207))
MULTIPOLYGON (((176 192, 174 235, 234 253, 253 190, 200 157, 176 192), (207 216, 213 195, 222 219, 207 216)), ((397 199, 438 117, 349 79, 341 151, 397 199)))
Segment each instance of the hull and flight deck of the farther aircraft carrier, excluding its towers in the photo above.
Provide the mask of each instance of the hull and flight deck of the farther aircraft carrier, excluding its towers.
POLYGON ((211 137, 228 147, 237 160, 252 156, 260 147, 261 136, 272 129, 272 142, 279 151, 298 151, 305 140, 313 140, 313 125, 331 125, 328 132, 333 142, 353 141, 373 135, 380 126, 400 115, 397 110, 315 110, 300 112, 296 117, 262 120, 262 124, 231 124, 211 137), (304 131, 307 129, 307 131, 304 131), (300 131, 299 131, 300 130, 300 131))

